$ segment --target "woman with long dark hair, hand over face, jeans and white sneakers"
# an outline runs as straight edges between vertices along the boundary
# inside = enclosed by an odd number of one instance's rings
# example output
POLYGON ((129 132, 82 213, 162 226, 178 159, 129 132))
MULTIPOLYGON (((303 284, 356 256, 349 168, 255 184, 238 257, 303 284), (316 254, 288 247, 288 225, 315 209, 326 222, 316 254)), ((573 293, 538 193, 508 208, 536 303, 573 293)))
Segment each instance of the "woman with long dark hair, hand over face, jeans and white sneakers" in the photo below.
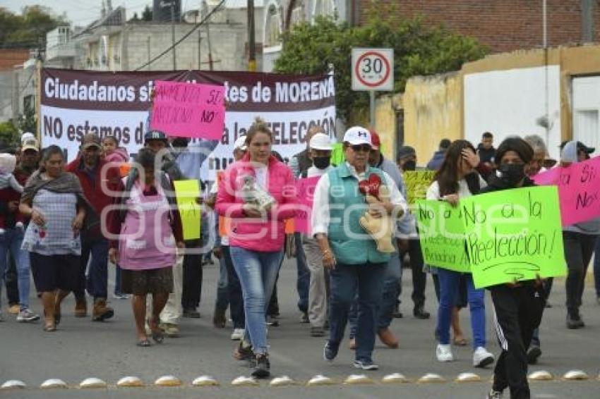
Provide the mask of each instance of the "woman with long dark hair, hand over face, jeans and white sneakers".
MULTIPOLYGON (((441 200, 456 206, 460 198, 477 194, 486 182, 475 172, 479 164, 479 156, 475 148, 467 140, 456 140, 448 148, 445 159, 436 179, 427 190, 427 200, 441 200)), ((438 326, 436 336, 438 347, 436 357, 439 362, 454 360, 450 347, 450 322, 452 309, 455 307, 460 280, 464 274, 448 269, 438 269, 440 281, 440 305, 438 309, 438 326)), ((471 311, 471 327, 473 330, 473 365, 485 367, 493 363, 493 355, 486 350, 486 306, 485 291, 477 290, 470 274, 467 278, 467 297, 471 311)))

